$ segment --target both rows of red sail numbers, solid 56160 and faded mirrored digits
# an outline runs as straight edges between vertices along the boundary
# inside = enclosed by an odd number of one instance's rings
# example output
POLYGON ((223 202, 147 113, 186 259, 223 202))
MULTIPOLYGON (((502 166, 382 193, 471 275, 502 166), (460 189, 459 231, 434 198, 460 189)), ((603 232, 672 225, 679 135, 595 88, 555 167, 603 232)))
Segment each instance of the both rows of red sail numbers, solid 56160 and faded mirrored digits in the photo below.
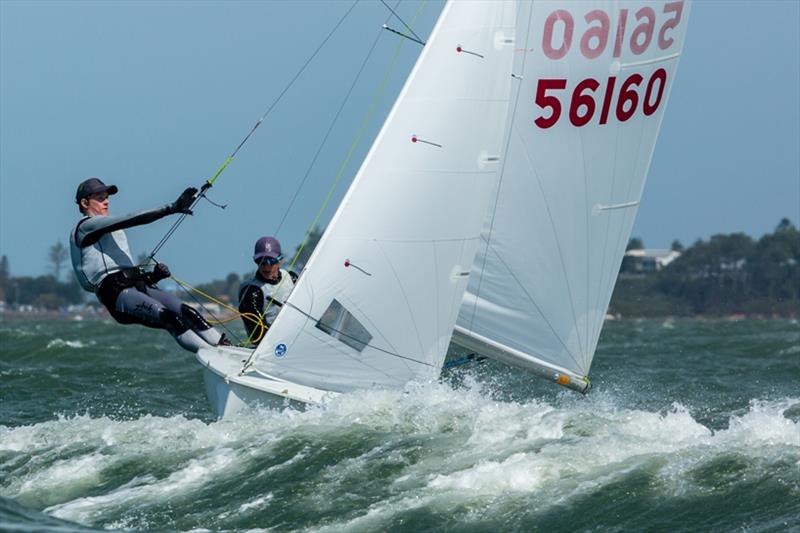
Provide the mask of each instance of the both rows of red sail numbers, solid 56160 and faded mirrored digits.
MULTIPOLYGON (((544 21, 542 52, 545 57, 557 61, 573 46, 579 46, 581 55, 588 60, 599 58, 609 47, 613 58, 628 51, 639 56, 651 47, 667 51, 675 42, 672 34, 681 22, 683 0, 667 2, 660 7, 659 16, 651 6, 643 6, 633 13, 620 9, 614 13, 613 28, 612 17, 603 10, 588 11, 582 17, 586 24, 576 27, 573 13, 558 9, 544 21)), ((586 78, 575 83, 571 91, 567 89, 571 86, 567 79, 541 78, 534 100, 542 114, 534 123, 546 129, 563 118, 581 127, 592 120, 600 125, 610 118, 625 122, 637 112, 650 116, 658 110, 666 84, 667 71, 663 68, 656 69, 647 78, 638 73, 619 79, 617 76, 604 80, 586 78)))

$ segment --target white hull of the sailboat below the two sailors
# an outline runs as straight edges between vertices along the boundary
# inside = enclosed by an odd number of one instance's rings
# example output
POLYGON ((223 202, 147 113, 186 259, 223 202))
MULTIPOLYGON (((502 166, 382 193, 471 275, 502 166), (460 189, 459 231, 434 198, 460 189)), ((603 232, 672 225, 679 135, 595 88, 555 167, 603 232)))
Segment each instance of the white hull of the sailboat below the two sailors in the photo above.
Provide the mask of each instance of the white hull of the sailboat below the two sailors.
POLYGON ((203 381, 208 400, 220 418, 229 417, 246 407, 302 407, 320 403, 336 394, 285 381, 255 369, 240 375, 249 355, 249 350, 227 346, 197 353, 197 360, 205 369, 203 381))

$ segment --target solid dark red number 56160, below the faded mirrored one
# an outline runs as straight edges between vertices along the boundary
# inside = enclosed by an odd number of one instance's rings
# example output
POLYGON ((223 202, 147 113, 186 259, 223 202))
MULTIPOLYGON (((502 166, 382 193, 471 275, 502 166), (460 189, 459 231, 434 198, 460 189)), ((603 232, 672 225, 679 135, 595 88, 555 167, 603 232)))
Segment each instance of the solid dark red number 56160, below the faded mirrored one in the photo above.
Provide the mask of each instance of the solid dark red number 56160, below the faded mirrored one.
MULTIPOLYGON (((609 76, 606 80, 603 100, 600 104, 600 116, 598 123, 603 125, 608 122, 611 106, 616 96, 614 115, 620 122, 629 120, 639 108, 639 91, 644 77, 641 74, 631 74, 619 86, 619 91, 615 91, 617 84, 616 76, 609 76)), ((667 85, 667 71, 660 68, 653 72, 644 89, 641 98, 642 112, 645 116, 650 116, 658 110, 661 98, 664 96, 664 88, 667 85)), ((534 120, 534 123, 542 129, 553 127, 561 118, 561 100, 548 91, 561 91, 567 88, 566 79, 542 78, 536 87, 536 104, 545 110, 545 114, 534 120), (547 114, 546 111, 550 110, 547 114)), ((572 90, 572 97, 569 100, 568 116, 573 126, 585 126, 594 118, 598 101, 595 95, 599 96, 598 89, 600 82, 594 78, 586 78, 579 82, 572 90)))

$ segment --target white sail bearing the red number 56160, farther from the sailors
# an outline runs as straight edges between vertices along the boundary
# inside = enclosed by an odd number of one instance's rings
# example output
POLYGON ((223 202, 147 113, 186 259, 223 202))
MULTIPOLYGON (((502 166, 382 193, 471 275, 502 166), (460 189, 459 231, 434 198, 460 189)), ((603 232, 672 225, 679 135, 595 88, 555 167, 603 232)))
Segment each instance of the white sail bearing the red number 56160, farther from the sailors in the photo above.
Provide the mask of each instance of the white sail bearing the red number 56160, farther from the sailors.
POLYGON ((520 4, 506 153, 457 343, 588 388, 689 8, 520 4))

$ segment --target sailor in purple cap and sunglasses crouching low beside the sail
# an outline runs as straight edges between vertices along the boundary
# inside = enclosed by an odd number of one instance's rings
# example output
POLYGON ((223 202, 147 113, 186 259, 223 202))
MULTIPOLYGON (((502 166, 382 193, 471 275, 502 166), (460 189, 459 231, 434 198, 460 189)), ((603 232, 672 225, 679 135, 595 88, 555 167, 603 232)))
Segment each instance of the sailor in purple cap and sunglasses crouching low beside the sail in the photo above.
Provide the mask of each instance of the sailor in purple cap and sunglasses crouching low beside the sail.
POLYGON ((267 327, 272 325, 294 289, 297 274, 281 268, 281 243, 275 237, 261 237, 256 241, 253 261, 258 269, 253 279, 239 288, 239 312, 242 313, 248 338, 256 343, 265 331, 259 327, 255 316, 262 317, 267 327), (256 329, 258 331, 254 332, 256 329))

